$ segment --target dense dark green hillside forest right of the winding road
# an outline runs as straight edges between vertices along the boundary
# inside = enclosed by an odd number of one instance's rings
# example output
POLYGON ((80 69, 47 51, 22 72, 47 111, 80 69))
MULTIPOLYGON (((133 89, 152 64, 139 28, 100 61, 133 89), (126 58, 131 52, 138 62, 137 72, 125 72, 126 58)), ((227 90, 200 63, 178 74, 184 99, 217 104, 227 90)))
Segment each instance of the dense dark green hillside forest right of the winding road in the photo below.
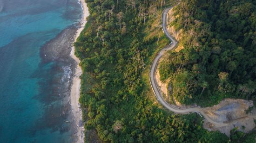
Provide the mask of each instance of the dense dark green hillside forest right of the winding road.
POLYGON ((160 74, 171 79, 175 99, 202 106, 256 100, 256 0, 182 0, 173 16, 184 49, 169 53, 160 74))

